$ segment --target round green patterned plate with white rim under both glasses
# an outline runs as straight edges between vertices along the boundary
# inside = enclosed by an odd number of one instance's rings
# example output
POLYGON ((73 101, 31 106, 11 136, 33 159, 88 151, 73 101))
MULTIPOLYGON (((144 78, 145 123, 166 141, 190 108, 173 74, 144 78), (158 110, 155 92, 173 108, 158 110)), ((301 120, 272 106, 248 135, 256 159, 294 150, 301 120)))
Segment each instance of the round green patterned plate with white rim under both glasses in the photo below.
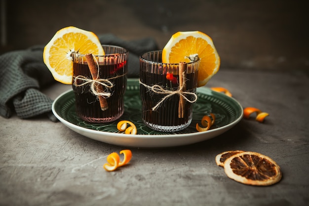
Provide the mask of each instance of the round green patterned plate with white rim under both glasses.
POLYGON ((88 123, 81 120, 75 112, 73 90, 58 96, 53 102, 52 111, 63 124, 86 137, 109 144, 145 148, 173 147, 204 141, 229 130, 243 116, 241 105, 223 93, 212 91, 207 87, 198 87, 197 96, 198 100, 193 107, 192 123, 186 129, 177 132, 159 132, 143 124, 142 102, 137 79, 128 79, 124 96, 125 112, 115 122, 88 123), (216 115, 215 124, 208 131, 197 132, 195 124, 200 124, 202 117, 209 113, 216 115), (137 127, 137 134, 119 132, 116 124, 121 120, 133 122, 137 127))

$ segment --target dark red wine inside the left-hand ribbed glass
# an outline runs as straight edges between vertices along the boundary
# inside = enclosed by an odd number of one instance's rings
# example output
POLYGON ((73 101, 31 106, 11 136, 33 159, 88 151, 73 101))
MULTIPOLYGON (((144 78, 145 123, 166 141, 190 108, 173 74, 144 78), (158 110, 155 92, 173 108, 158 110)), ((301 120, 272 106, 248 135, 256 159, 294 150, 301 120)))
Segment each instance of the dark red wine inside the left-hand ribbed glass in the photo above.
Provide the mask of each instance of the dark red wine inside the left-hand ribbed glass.
POLYGON ((113 65, 101 65, 99 63, 99 78, 109 79, 113 83, 113 87, 108 92, 111 93, 106 98, 109 108, 105 111, 101 110, 99 98, 93 94, 90 83, 81 85, 83 80, 77 80, 75 77, 82 76, 92 80, 92 76, 86 63, 74 63, 73 90, 76 97, 77 115, 88 122, 111 122, 118 119, 123 114, 123 94, 126 89, 127 82, 127 64, 123 63, 113 65))

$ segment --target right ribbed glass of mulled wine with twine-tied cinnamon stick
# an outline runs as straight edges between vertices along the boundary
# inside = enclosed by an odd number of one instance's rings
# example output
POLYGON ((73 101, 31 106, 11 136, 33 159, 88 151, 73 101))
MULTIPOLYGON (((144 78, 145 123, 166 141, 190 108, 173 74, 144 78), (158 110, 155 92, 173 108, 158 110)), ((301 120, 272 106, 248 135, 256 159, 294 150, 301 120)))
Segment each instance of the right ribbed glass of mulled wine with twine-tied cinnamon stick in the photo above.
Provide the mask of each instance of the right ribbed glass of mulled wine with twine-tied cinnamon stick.
POLYGON ((140 56, 140 94, 144 124, 158 131, 178 131, 192 122, 197 100, 199 59, 162 63, 162 51, 140 56))

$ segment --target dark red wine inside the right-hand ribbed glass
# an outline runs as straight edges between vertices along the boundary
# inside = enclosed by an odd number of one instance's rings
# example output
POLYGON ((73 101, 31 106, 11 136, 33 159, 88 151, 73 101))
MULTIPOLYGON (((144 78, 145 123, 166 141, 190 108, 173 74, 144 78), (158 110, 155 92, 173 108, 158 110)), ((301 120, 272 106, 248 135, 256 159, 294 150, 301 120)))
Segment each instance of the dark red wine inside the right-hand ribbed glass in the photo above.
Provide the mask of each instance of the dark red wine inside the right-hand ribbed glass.
MULTIPOLYGON (((186 75, 186 91, 196 91, 197 72, 186 75)), ((141 82, 153 86, 154 84, 162 86, 166 90, 176 91, 179 89, 179 75, 173 74, 154 74, 141 71, 141 82)), ((145 124, 151 127, 160 128, 160 130, 173 130, 173 126, 187 125, 192 121, 193 103, 186 101, 184 118, 178 118, 179 94, 174 94, 153 111, 152 108, 158 104, 166 94, 157 94, 143 84, 140 85, 140 93, 143 101, 143 120, 145 124), (164 127, 166 126, 166 129, 164 127)), ((189 100, 193 101, 193 95, 185 95, 189 100)), ((176 127, 175 127, 176 128, 176 127)), ((178 130, 178 129, 177 129, 178 130)))

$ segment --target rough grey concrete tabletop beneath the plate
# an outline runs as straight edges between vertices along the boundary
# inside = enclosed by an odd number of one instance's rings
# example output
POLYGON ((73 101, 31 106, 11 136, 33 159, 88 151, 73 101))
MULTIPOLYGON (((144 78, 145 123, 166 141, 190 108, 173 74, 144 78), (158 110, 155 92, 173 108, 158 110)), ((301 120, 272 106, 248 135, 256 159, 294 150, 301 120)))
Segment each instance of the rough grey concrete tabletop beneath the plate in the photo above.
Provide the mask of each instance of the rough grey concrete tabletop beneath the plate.
MULTIPOLYGON (((0 117, 1 206, 305 206, 309 204, 309 78, 304 72, 221 69, 207 84, 228 88, 243 108, 268 112, 264 123, 242 119, 200 143, 130 148, 131 162, 114 172, 106 157, 126 147, 89 139, 45 117, 0 117), (228 178, 215 156, 259 152, 280 167, 271 186, 228 178)), ((44 93, 56 98, 71 85, 44 93)))

